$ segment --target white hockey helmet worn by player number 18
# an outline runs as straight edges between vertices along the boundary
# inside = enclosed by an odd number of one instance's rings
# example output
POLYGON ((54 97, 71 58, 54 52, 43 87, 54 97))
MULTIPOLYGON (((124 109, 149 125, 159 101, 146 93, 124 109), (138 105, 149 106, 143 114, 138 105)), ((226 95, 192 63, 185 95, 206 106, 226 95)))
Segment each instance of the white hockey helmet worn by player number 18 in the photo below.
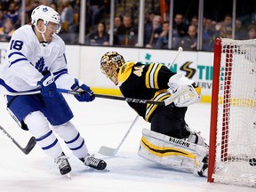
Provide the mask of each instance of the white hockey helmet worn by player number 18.
POLYGON ((49 22, 56 23, 57 27, 55 29, 55 33, 58 34, 60 32, 60 14, 51 7, 44 5, 37 6, 31 14, 32 25, 36 26, 38 20, 44 20, 45 27, 49 22))

